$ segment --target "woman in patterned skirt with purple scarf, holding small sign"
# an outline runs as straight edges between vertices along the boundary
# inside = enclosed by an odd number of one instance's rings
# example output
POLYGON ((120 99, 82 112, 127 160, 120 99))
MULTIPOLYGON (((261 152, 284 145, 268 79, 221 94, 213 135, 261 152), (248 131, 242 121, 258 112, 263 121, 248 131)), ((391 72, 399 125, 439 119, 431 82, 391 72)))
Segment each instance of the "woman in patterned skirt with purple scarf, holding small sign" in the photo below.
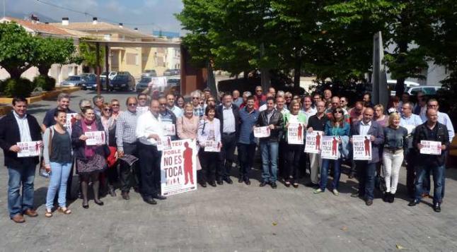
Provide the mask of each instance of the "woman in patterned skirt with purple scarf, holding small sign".
POLYGON ((83 108, 82 112, 83 118, 74 124, 71 132, 71 143, 76 157, 76 169, 81 177, 83 208, 87 209, 89 208, 87 198, 89 179, 92 179, 93 183, 93 200, 97 205, 103 205, 103 201, 98 198, 98 188, 100 186, 98 176, 100 172, 106 169, 105 157, 110 153, 105 141, 103 143, 98 142, 96 145, 86 144, 86 141, 89 140, 86 133, 95 131, 93 132, 94 135, 100 133, 103 136, 103 140, 105 140, 105 131, 103 126, 97 123, 96 114, 92 108, 83 108))

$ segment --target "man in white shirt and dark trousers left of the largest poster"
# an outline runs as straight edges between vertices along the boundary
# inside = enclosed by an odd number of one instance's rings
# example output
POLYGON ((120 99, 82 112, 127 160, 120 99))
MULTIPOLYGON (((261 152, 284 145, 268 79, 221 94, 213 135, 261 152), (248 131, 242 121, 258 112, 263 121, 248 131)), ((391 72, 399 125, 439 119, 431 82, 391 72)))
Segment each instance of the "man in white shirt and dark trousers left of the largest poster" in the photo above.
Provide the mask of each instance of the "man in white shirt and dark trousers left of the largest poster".
POLYGON ((156 200, 165 200, 159 193, 161 183, 161 152, 157 150, 157 141, 163 138, 160 125, 158 100, 151 100, 149 112, 141 114, 137 121, 136 135, 139 140, 139 167, 141 169, 141 194, 144 202, 157 204, 156 200))

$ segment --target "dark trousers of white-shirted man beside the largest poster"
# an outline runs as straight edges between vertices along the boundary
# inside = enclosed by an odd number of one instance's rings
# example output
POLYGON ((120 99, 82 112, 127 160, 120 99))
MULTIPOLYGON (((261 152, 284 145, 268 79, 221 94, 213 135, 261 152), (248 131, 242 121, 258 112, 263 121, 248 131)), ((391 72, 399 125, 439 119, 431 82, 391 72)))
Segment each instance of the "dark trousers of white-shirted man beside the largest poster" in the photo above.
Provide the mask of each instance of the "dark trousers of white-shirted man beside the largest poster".
POLYGON ((154 145, 138 143, 139 169, 141 172, 141 195, 151 198, 160 191, 162 152, 154 145))

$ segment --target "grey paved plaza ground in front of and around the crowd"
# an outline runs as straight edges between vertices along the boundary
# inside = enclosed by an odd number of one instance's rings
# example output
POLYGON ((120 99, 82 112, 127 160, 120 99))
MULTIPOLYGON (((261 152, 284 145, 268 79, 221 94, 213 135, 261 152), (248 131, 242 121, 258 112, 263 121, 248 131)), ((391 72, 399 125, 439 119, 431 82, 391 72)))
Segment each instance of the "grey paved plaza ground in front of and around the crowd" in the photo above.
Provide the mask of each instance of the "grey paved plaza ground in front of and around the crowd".
MULTIPOLYGON (((93 95, 73 93, 71 109, 93 95)), ((125 109, 126 93, 103 95, 105 100, 117 98, 125 109)), ((41 122, 54 106, 55 100, 37 102, 29 112, 41 122)), ((3 166, 3 153, 0 159, 3 166)), ((334 196, 330 191, 314 195, 303 186, 308 178, 299 188, 260 188, 259 170, 253 171, 250 186, 238 184, 233 170, 233 185, 199 188, 158 205, 144 203, 133 191, 130 200, 123 200, 117 191, 115 198, 102 198, 104 206, 90 200, 86 210, 78 199, 69 205, 71 215, 54 212, 49 219, 44 216, 48 181, 36 176, 40 215, 15 224, 8 217, 8 174, 3 167, 0 251, 457 251, 457 170, 446 172, 440 213, 433 211, 429 198, 407 206, 404 168, 395 203, 377 196, 370 207, 350 197, 357 181, 345 174, 340 196, 334 196)))

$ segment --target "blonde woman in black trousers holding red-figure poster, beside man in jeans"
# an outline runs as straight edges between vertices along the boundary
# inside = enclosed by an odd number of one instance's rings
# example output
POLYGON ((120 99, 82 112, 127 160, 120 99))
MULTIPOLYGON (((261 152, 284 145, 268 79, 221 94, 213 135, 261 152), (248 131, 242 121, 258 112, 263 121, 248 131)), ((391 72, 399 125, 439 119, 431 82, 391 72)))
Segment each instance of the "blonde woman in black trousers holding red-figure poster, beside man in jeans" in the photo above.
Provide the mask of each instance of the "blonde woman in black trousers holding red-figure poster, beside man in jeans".
POLYGON ((303 152, 306 115, 300 109, 298 100, 291 101, 290 109, 290 113, 284 114, 284 128, 287 140, 287 165, 284 167, 284 183, 287 187, 292 183, 293 186, 297 188, 299 187, 297 179, 299 178, 300 155, 303 152))

